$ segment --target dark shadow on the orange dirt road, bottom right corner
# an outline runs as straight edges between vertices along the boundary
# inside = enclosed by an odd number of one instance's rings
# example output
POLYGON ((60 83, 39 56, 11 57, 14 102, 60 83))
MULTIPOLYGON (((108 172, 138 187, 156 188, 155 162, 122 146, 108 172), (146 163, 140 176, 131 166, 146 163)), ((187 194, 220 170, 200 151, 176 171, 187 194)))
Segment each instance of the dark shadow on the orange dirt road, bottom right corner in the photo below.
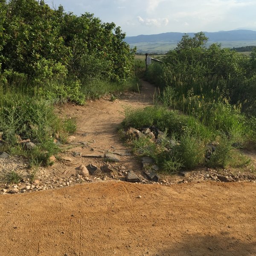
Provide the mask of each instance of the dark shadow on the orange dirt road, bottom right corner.
MULTIPOLYGON (((245 236, 241 241, 230 236, 229 232, 221 232, 219 236, 186 236, 182 242, 172 248, 159 251, 155 256, 249 256, 256 255, 256 241, 245 236)), ((236 236, 236 234, 234 234, 236 236)))

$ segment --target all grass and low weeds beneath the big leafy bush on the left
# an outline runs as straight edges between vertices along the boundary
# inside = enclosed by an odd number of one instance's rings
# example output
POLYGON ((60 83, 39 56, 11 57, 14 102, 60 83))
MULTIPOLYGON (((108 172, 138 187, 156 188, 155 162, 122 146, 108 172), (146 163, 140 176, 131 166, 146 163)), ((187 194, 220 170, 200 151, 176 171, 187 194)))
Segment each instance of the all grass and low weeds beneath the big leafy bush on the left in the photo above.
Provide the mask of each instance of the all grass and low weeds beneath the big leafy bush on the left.
MULTIPOLYGON (((139 90, 140 81, 131 77, 123 84, 91 79, 81 83, 75 77, 35 81, 24 74, 0 74, 0 132, 3 142, 0 151, 29 158, 31 165, 48 165, 49 157, 56 155, 62 143, 76 131, 74 119, 61 119, 54 112, 54 104, 67 101, 84 104, 85 99, 96 99, 105 94, 124 90, 139 90), (20 143, 31 140, 35 147, 20 143)), ((115 98, 115 96, 113 96, 115 98)))

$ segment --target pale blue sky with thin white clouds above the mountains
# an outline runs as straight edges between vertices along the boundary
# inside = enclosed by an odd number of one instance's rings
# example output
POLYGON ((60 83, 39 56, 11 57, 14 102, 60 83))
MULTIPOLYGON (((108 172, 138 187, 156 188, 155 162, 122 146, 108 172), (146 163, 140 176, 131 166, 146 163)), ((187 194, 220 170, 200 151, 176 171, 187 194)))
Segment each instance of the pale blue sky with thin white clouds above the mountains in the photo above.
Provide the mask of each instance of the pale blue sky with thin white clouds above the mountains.
POLYGON ((93 13, 127 36, 164 32, 256 30, 256 0, 45 0, 66 12, 93 13))

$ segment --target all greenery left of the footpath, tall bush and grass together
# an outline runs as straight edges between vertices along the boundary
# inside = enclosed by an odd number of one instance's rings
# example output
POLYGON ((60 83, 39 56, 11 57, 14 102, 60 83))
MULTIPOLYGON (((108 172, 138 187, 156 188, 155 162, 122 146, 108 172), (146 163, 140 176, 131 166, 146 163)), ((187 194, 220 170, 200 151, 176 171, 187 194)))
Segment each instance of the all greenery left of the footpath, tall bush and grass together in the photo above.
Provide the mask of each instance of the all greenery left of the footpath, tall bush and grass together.
MULTIPOLYGON (((114 23, 90 13, 76 16, 43 0, 0 0, 0 151, 49 164, 74 132, 53 103, 137 87, 134 52, 114 23), (36 146, 26 148, 22 140, 36 146)), ((136 89, 136 88, 135 88, 136 89)), ((12 179, 12 178, 10 178, 12 179)))

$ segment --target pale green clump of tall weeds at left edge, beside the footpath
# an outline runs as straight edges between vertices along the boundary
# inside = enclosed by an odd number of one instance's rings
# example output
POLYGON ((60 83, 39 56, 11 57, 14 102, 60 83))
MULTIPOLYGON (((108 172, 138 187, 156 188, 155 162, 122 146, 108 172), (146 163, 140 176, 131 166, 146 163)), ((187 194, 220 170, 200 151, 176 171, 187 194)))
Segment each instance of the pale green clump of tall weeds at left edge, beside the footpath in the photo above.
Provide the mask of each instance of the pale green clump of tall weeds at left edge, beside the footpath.
POLYGON ((21 91, 0 94, 0 131, 4 141, 0 150, 28 157, 31 164, 49 164, 49 157, 60 150, 54 139, 64 141, 70 130, 75 129, 74 123, 66 125, 67 122, 70 121, 56 116, 50 101, 21 91), (27 139, 32 140, 35 147, 27 148, 20 143, 27 139))

